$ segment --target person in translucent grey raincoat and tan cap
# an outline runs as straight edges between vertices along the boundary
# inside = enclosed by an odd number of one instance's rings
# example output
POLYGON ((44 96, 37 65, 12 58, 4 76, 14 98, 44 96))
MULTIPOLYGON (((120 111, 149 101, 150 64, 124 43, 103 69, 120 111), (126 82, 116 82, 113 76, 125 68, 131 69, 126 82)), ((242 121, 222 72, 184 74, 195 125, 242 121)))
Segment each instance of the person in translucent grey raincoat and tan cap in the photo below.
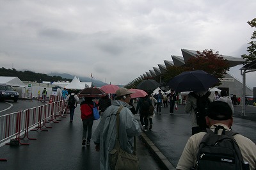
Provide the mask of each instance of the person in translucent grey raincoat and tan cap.
POLYGON ((95 149, 100 151, 100 169, 110 169, 109 152, 113 150, 116 141, 116 112, 121 105, 124 108, 120 111, 120 147, 127 153, 133 151, 133 137, 141 133, 141 128, 134 115, 129 110, 131 94, 134 93, 126 88, 116 90, 116 100, 109 106, 100 123, 93 133, 92 140, 96 144, 95 149))

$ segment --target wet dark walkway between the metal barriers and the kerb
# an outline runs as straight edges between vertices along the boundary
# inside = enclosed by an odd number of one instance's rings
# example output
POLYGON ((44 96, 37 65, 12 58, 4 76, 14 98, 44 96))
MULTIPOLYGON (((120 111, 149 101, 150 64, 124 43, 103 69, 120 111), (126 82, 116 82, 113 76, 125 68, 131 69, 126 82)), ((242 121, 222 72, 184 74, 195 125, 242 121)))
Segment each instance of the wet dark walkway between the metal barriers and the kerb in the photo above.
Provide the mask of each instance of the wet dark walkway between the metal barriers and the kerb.
MULTIPOLYGON (((95 151, 95 145, 82 146, 83 124, 79 106, 72 123, 68 117, 59 120, 59 123, 48 123, 47 126, 52 128, 48 128, 47 132, 29 132, 29 137, 36 138, 22 140, 22 143, 29 145, 1 146, 0 158, 7 161, 0 161, 0 169, 100 169, 99 152, 95 151)), ((94 121, 93 131, 98 123, 99 120, 94 121)), ((162 169, 141 137, 137 140, 137 155, 140 169, 162 169)))

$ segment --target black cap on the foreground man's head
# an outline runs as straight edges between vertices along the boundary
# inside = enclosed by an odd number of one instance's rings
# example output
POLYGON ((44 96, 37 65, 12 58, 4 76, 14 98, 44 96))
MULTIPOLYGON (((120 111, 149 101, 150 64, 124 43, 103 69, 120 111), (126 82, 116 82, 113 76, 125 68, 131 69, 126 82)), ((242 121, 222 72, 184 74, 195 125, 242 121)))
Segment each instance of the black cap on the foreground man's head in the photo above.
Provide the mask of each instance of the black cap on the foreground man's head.
POLYGON ((207 108, 207 114, 212 120, 229 120, 232 118, 232 110, 226 102, 211 102, 207 108))

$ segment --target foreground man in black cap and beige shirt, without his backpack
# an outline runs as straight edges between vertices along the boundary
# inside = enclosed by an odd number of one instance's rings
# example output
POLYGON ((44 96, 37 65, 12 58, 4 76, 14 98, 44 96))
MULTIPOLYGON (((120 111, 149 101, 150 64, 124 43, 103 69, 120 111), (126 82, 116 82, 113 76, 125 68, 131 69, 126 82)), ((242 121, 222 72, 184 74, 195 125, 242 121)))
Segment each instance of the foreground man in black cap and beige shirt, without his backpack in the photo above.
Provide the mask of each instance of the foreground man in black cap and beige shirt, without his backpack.
MULTIPOLYGON (((215 101, 208 105, 207 116, 205 117, 207 125, 214 132, 217 126, 222 126, 225 130, 231 130, 233 124, 232 110, 226 102, 215 101)), ((222 129, 221 129, 222 132, 222 129)), ((218 134, 221 134, 218 132, 218 134)), ((196 165, 198 147, 206 132, 200 132, 192 135, 188 139, 176 169, 190 169, 196 165)), ((256 145, 247 137, 236 134, 233 136, 239 149, 241 150, 243 160, 250 164, 250 169, 256 168, 256 145)))

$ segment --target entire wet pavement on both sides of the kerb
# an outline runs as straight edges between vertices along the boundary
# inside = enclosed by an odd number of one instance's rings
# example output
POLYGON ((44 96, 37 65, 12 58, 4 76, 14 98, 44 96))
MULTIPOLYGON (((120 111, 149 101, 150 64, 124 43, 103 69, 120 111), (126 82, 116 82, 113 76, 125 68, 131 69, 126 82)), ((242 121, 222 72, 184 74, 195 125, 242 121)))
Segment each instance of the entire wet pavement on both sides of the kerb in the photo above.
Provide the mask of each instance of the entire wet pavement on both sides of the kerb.
MULTIPOLYGON (((256 143, 256 111, 246 113, 243 118, 237 114, 235 107, 234 125, 232 129, 256 143)), ((162 108, 162 114, 153 120, 152 131, 142 132, 137 140, 140 169, 175 169, 179 157, 188 138, 191 136, 190 114, 184 112, 184 105, 178 106, 178 111, 169 114, 170 108, 162 108)), ((139 114, 134 115, 140 121, 139 114)), ((28 146, 0 147, 0 169, 100 169, 99 152, 94 144, 82 146, 83 125, 79 106, 74 115, 74 121, 61 118, 60 123, 51 123, 48 132, 29 132, 36 140, 23 141, 28 146)), ((94 121, 93 131, 99 120, 94 121)))

